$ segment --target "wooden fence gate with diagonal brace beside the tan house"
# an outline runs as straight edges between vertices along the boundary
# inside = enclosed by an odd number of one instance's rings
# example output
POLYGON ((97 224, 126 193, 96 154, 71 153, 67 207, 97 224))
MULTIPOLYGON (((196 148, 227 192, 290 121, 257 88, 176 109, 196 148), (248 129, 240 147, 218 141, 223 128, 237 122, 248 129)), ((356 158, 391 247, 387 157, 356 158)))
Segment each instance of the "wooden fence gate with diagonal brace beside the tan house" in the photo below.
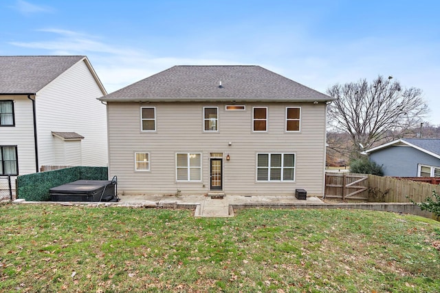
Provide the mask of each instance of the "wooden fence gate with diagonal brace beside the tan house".
POLYGON ((369 199, 369 176, 353 173, 325 173, 325 197, 369 199))

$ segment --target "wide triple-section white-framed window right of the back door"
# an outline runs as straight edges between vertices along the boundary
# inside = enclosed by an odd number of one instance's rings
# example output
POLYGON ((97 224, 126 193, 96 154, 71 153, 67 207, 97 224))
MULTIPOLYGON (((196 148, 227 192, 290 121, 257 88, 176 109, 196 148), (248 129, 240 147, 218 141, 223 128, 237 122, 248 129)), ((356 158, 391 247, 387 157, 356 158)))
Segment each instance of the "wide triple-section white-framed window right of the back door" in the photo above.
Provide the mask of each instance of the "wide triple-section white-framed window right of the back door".
POLYGON ((259 153, 256 155, 256 181, 294 181, 294 153, 259 153))

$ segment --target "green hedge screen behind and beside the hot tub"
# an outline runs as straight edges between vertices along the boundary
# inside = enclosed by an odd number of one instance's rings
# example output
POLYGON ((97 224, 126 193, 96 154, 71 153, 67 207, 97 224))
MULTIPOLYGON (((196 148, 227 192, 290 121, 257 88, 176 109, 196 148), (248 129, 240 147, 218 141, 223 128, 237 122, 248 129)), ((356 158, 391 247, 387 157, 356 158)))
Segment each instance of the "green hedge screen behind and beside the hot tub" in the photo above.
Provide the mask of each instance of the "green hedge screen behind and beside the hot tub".
POLYGON ((76 180, 108 180, 107 167, 78 166, 17 177, 17 198, 30 202, 50 200, 49 190, 76 180))

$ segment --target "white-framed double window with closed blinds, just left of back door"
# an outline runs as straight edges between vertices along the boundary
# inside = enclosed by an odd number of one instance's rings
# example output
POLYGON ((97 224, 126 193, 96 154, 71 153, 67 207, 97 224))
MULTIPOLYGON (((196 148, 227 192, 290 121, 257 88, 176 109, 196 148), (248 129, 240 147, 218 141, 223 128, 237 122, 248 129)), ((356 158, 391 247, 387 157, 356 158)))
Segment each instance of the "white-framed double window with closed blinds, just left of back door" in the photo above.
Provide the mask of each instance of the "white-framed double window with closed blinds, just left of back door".
POLYGON ((177 181, 201 181, 201 154, 176 154, 177 181))

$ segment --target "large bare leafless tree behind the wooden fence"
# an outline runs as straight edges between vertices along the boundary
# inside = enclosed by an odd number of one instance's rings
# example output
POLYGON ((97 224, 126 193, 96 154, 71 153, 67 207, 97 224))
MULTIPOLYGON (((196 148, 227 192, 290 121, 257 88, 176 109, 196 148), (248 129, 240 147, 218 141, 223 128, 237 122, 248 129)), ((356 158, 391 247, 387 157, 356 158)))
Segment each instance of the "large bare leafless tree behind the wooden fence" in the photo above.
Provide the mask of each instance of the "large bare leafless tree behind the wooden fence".
POLYGON ((358 158, 378 141, 401 137, 426 118, 429 110, 421 89, 403 88, 392 79, 378 76, 372 83, 362 79, 327 89, 327 94, 337 98, 329 106, 329 127, 350 135, 350 158, 358 158))

